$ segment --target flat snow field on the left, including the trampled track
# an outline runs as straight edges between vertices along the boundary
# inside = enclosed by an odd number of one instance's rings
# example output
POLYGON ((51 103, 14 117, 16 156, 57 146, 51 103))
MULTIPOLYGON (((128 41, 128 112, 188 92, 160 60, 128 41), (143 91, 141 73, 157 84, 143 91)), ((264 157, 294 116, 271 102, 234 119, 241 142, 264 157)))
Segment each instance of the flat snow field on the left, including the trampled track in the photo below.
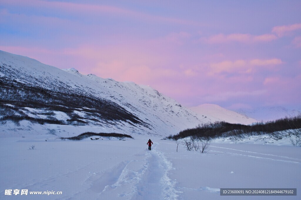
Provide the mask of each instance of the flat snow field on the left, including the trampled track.
MULTIPOLYGON (((47 136, 45 136, 47 137, 47 136)), ((16 199, 174 199, 171 169, 147 139, 61 141, 2 138, 0 198, 6 189, 62 191, 16 199), (50 141, 50 142, 49 142, 50 141), (29 146, 35 149, 29 150, 29 146), (13 150, 11 149, 13 148, 13 150)))

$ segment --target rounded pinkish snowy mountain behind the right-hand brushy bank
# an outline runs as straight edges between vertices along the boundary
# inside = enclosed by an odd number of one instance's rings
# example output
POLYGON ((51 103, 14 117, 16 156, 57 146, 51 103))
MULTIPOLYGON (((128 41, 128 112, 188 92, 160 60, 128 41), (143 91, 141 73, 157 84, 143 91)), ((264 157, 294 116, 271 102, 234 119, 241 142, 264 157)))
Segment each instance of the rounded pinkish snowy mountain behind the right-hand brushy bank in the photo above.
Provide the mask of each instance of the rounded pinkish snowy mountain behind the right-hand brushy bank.
POLYGON ((227 110, 216 104, 205 103, 191 107, 190 109, 197 113, 199 119, 203 119, 207 122, 226 121, 233 124, 252 124, 257 122, 256 119, 227 110))

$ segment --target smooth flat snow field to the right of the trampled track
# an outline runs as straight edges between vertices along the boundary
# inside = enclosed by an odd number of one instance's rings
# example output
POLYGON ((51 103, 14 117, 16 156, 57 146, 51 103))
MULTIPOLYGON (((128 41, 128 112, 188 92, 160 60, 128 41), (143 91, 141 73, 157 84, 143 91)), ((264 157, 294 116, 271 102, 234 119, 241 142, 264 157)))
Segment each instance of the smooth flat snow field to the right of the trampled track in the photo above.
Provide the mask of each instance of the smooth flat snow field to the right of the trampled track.
MULTIPOLYGON (((172 163, 177 199, 299 199, 298 196, 220 196, 220 188, 301 189, 301 149, 293 146, 211 143, 208 154, 160 141, 172 163)), ((297 192, 298 195, 298 192, 297 192)))

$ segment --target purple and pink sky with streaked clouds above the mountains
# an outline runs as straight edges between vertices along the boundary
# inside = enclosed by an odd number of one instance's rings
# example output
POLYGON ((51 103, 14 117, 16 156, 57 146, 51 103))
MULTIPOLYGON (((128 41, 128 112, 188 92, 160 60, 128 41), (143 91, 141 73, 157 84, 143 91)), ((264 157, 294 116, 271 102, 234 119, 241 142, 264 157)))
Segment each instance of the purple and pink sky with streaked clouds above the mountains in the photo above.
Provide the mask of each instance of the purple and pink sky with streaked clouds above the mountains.
POLYGON ((187 107, 300 108, 300 8, 299 0, 1 0, 0 50, 150 85, 187 107))

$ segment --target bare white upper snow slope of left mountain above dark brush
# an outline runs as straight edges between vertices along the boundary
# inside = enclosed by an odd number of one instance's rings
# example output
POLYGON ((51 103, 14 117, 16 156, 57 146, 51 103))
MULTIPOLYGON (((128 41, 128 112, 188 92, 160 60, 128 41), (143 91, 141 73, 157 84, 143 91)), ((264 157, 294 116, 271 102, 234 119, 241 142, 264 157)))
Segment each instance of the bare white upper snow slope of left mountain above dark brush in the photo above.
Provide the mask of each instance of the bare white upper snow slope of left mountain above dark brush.
MULTIPOLYGON (((74 68, 60 70, 34 59, 3 51, 0 51, 0 66, 0 72, 7 79, 14 79, 49 91, 104 99, 116 103, 144 124, 148 124, 146 127, 141 124, 114 121, 112 125, 104 121, 101 125, 108 132, 164 136, 203 123, 195 113, 146 85, 117 82, 93 74, 82 75, 74 68)), ((83 108, 77 108, 76 114, 80 115, 79 112, 82 112, 80 109, 83 108)), ((82 115, 84 116, 85 113, 82 112, 82 115)))

